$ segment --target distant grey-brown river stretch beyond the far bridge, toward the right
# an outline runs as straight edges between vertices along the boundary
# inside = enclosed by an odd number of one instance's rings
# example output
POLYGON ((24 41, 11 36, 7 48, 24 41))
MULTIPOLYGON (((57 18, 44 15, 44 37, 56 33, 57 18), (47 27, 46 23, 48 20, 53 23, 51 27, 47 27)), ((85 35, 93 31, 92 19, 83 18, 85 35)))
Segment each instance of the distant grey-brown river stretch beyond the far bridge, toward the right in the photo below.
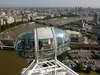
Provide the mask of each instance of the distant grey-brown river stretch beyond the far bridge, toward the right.
POLYGON ((70 22, 75 22, 79 20, 86 20, 86 21, 92 21, 93 17, 64 17, 64 18, 54 18, 54 19, 47 19, 47 20, 42 20, 43 22, 47 22, 50 24, 53 24, 53 26, 58 26, 58 25, 64 25, 70 22))

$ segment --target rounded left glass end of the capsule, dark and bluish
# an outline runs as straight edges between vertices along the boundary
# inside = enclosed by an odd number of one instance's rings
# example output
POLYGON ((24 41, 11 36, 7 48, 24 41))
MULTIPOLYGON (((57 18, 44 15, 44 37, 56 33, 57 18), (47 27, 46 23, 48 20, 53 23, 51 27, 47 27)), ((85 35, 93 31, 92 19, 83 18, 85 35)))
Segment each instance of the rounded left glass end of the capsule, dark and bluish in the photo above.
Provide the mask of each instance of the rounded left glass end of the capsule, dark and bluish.
POLYGON ((19 35, 15 42, 15 49, 22 58, 35 58, 34 30, 19 35))

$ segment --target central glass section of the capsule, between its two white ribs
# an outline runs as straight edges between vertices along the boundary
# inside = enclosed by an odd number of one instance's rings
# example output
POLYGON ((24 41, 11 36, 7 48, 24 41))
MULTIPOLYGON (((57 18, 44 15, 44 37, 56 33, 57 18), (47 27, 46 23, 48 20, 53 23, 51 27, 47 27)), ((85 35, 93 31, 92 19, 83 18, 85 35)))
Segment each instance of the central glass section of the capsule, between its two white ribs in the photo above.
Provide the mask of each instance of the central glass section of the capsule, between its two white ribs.
POLYGON ((53 57, 53 38, 39 40, 39 57, 48 58, 53 57))

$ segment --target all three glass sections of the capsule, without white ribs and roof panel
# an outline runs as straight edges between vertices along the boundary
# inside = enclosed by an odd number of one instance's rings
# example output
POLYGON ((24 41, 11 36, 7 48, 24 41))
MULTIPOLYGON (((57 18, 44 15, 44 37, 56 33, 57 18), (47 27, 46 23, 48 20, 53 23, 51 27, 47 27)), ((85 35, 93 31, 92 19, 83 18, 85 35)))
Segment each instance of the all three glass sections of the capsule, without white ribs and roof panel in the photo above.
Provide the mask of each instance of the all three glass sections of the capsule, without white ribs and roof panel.
MULTIPOLYGON (((57 55, 60 55, 67 50, 70 39, 68 34, 61 29, 54 28, 54 33, 57 41, 57 55)), ((38 39, 39 58, 54 57, 54 46, 55 45, 53 44, 53 38, 38 39)), ((35 58, 34 29, 19 35, 18 39, 15 42, 15 49, 17 51, 17 54, 22 58, 35 58)))

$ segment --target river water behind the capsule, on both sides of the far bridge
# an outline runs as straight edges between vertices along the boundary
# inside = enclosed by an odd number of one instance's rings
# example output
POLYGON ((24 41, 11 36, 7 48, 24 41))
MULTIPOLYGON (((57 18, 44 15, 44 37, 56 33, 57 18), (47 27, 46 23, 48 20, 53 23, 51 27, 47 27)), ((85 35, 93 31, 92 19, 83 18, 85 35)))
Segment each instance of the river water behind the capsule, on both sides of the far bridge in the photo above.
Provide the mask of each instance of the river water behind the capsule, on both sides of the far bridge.
MULTIPOLYGON (((47 20, 41 20, 41 21, 54 24, 54 26, 56 26, 56 25, 60 26, 61 24, 59 24, 59 23, 63 22, 63 25, 64 25, 64 24, 67 24, 70 22, 78 21, 80 19, 92 20, 93 17, 54 18, 54 19, 47 19, 47 20)), ((33 24, 26 23, 26 24, 18 25, 17 27, 8 29, 2 33, 5 33, 3 35, 4 38, 12 38, 15 40, 19 34, 25 32, 27 30, 31 30, 35 27, 43 27, 43 26, 45 26, 45 25, 37 24, 37 23, 33 23, 33 24)))

